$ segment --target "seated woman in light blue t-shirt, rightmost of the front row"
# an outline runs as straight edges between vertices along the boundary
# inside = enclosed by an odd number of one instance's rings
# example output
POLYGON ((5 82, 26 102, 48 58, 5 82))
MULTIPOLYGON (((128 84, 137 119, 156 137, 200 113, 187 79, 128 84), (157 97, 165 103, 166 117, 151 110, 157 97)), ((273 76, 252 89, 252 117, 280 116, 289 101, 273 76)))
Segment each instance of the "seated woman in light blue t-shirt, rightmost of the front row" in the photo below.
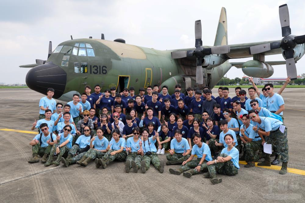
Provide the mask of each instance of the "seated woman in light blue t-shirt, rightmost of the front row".
MULTIPOLYGON (((209 174, 224 174, 228 176, 234 176, 239 170, 239 152, 233 146, 234 138, 233 135, 227 134, 224 136, 224 142, 226 142, 227 147, 222 149, 221 154, 216 160, 208 161, 206 164, 208 166, 209 174)), ((221 183, 221 178, 211 179, 213 184, 221 183)))

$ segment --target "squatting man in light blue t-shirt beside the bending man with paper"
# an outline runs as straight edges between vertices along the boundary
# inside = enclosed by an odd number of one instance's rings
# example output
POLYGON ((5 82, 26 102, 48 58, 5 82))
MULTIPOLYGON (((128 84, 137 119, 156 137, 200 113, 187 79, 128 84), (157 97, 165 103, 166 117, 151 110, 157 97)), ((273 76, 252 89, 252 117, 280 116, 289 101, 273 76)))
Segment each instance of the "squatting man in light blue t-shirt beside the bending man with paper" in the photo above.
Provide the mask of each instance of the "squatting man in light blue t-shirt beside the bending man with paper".
POLYGON ((253 125, 250 124, 250 118, 248 114, 241 115, 243 124, 240 126, 240 139, 244 143, 243 155, 239 159, 240 161, 246 161, 246 168, 254 167, 256 161, 262 156, 259 156, 255 152, 262 149, 262 141, 258 133, 253 130, 253 125))

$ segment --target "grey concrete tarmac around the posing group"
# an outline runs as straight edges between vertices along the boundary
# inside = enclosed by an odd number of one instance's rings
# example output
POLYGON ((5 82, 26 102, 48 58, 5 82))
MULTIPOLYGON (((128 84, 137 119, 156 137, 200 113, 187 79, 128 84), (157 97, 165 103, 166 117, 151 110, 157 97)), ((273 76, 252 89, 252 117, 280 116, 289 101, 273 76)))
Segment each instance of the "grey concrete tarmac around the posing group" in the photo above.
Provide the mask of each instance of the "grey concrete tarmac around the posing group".
MULTIPOLYGON (((213 95, 218 96, 217 89, 213 89, 213 95)), ((31 131, 43 96, 28 88, 0 89, 0 129, 31 131)), ((235 96, 234 89, 230 89, 229 96, 235 96)), ((305 170, 305 89, 287 88, 282 96, 288 127, 288 167, 305 170)), ((244 168, 243 164, 236 176, 218 175, 223 182, 217 185, 202 174, 191 178, 170 174, 168 169, 178 165, 165 166, 162 174, 151 165, 142 174, 140 170, 125 173, 124 162, 117 161, 106 169, 95 168, 94 162, 87 167, 74 164, 68 168, 46 167, 40 162, 30 164, 29 142, 34 136, 0 130, 1 202, 304 202, 305 199, 304 175, 280 175, 278 170, 244 168)), ((159 157, 166 161, 165 155, 159 157)))

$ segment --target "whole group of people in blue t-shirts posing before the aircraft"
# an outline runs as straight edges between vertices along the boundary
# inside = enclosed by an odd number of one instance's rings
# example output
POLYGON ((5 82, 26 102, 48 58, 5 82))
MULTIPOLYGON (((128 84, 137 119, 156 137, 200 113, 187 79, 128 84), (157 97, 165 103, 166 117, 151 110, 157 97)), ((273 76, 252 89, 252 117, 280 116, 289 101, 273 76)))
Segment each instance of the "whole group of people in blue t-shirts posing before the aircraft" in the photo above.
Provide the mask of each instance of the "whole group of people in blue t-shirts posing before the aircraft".
POLYGON ((176 85, 174 94, 158 85, 133 87, 116 94, 116 89, 96 85, 85 87, 85 93, 74 94, 73 101, 63 105, 52 96, 54 89, 39 102, 39 120, 32 130, 39 134, 30 142, 33 158, 29 163, 45 166, 71 164, 87 166, 91 160, 96 168, 105 169, 114 160, 125 161, 125 171, 145 173, 150 163, 163 173, 166 165, 181 165, 169 172, 190 178, 205 173, 213 184, 221 183, 216 173, 235 175, 239 160, 245 167, 277 165, 280 174, 287 173, 287 128, 283 123, 284 100, 280 95, 290 81, 287 79, 278 93, 266 84, 262 92, 255 86, 246 91, 235 88, 236 96, 228 96, 227 87, 219 87, 216 98, 209 87, 203 91, 187 88, 188 95, 176 85), (256 94, 258 97, 256 97, 256 94), (280 130, 281 129, 281 130, 280 130), (272 144, 275 159, 264 153, 263 144, 272 144), (166 155, 166 163, 157 155, 166 155), (239 154, 242 156, 239 158, 239 154), (54 160, 53 156, 57 156, 54 160), (196 156, 197 159, 194 159, 196 156))

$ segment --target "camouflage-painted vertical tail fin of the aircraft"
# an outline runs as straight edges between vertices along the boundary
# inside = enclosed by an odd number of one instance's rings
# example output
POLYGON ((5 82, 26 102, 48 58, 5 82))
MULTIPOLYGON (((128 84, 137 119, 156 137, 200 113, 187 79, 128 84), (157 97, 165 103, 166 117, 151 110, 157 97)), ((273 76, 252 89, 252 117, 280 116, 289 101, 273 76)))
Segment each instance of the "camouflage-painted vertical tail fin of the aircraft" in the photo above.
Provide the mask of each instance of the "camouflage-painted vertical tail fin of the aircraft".
POLYGON ((227 11, 221 8, 214 46, 228 45, 227 11))

